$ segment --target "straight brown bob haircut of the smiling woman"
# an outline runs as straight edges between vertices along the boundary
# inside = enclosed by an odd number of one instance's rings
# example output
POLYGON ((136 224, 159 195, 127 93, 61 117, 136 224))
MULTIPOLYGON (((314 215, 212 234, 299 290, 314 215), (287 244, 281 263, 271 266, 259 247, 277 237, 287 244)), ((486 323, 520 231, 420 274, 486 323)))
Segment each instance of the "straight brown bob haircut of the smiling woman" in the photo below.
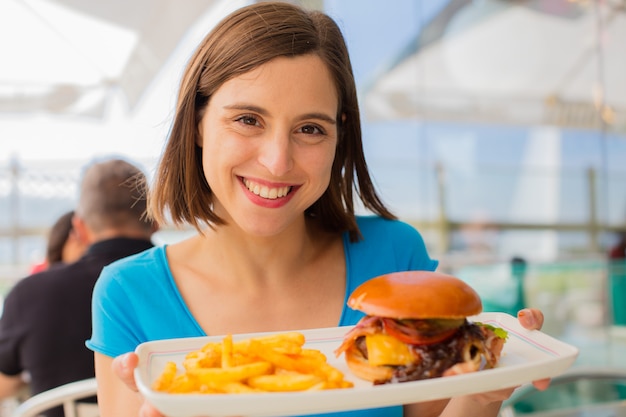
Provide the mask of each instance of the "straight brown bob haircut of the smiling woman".
POLYGON ((224 18, 204 38, 182 77, 174 122, 149 196, 150 215, 175 225, 225 224, 212 210, 213 193, 202 169, 199 124, 211 96, 226 81, 274 58, 313 54, 328 66, 339 97, 338 142, 330 184, 306 214, 334 232, 360 238, 354 193, 363 206, 388 219, 395 216, 377 195, 361 139, 356 86, 348 49, 333 19, 281 2, 243 7, 224 18))

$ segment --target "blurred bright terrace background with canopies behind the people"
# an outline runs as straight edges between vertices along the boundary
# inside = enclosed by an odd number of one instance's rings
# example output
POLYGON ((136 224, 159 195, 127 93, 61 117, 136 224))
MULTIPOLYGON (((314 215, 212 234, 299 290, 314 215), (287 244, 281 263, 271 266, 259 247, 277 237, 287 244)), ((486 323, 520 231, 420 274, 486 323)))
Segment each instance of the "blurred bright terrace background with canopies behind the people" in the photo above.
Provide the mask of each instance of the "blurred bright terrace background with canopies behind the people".
MULTIPOLYGON (((0 2, 1 293, 43 258, 91 159, 152 174, 193 48, 249 3, 0 2)), ((486 309, 544 309, 554 335, 619 333, 626 1, 296 3, 343 29, 375 182, 441 269, 486 309)))

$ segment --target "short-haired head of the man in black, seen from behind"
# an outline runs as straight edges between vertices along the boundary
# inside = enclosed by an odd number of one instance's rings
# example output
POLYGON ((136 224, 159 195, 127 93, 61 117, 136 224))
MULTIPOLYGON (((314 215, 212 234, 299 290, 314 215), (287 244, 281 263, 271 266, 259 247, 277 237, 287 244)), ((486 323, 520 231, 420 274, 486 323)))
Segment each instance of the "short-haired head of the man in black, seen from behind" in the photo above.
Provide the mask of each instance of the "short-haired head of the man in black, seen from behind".
POLYGON ((149 236, 152 222, 145 217, 146 177, 122 159, 90 165, 84 175, 76 215, 95 234, 149 236))

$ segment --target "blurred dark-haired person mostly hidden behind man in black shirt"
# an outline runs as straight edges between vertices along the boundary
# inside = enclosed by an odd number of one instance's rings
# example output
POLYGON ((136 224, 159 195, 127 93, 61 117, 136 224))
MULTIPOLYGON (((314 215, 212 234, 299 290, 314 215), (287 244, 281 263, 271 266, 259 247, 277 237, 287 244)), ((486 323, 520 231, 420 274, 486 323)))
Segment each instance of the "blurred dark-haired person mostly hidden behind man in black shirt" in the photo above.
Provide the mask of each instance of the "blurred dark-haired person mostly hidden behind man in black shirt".
POLYGON ((59 217, 52 225, 48 233, 46 258, 31 269, 31 274, 44 271, 51 265, 59 262, 72 263, 85 253, 87 246, 78 239, 78 236, 72 229, 73 217, 74 210, 70 210, 59 217))

